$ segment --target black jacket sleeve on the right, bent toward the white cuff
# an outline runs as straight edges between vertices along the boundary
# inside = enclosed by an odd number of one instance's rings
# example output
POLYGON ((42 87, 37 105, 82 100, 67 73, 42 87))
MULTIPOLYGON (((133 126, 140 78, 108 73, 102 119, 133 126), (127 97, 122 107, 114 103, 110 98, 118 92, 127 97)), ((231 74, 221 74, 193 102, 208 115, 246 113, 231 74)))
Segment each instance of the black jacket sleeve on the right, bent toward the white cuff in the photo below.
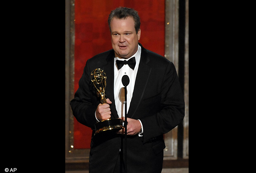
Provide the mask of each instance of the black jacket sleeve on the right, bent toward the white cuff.
POLYGON ((169 62, 161 84, 160 111, 140 119, 143 125, 143 143, 171 131, 185 116, 185 102, 177 72, 169 62))

